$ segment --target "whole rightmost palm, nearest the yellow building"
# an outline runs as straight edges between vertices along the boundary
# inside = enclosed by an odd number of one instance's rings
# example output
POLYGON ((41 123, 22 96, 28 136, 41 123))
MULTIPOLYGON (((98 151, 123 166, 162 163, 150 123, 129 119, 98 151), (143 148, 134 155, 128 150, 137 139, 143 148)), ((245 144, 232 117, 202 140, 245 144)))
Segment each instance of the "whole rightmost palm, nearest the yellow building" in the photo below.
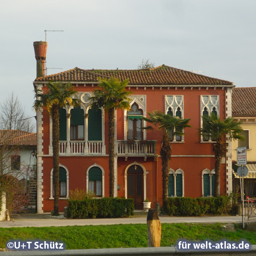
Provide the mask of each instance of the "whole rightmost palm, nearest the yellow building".
POLYGON ((221 158, 226 154, 226 148, 228 140, 232 139, 245 139, 241 133, 243 131, 240 126, 242 122, 237 122, 234 118, 228 117, 221 121, 220 117, 213 112, 210 115, 203 115, 203 127, 199 129, 199 134, 205 139, 213 141, 213 152, 215 155, 215 183, 214 183, 214 196, 219 194, 220 184, 220 169, 221 169, 221 158))

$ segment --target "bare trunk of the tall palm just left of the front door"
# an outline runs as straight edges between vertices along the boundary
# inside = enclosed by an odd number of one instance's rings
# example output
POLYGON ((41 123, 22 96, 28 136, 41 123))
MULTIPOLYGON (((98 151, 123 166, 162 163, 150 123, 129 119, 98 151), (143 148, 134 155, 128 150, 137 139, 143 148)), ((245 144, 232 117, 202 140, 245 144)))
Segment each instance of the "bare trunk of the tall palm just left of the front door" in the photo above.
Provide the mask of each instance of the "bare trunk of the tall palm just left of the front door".
POLYGON ((109 109, 109 196, 114 197, 115 109, 109 109))

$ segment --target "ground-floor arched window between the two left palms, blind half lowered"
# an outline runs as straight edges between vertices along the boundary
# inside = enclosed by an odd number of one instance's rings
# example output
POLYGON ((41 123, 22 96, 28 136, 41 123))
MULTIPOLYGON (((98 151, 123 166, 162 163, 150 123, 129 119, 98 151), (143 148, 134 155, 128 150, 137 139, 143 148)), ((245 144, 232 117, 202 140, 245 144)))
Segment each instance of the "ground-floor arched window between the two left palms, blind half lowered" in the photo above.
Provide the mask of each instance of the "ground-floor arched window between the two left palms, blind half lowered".
POLYGON ((89 191, 96 194, 97 197, 102 197, 102 170, 99 167, 92 167, 89 170, 89 191))

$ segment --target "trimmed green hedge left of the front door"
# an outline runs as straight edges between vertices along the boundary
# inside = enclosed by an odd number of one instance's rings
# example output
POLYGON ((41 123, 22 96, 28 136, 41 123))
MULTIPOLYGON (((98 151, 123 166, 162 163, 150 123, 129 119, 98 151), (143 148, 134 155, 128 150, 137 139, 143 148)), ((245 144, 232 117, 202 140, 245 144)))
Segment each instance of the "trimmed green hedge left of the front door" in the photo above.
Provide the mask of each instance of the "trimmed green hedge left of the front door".
POLYGON ((133 214, 133 199, 103 197, 68 201, 68 216, 71 218, 121 218, 133 214))

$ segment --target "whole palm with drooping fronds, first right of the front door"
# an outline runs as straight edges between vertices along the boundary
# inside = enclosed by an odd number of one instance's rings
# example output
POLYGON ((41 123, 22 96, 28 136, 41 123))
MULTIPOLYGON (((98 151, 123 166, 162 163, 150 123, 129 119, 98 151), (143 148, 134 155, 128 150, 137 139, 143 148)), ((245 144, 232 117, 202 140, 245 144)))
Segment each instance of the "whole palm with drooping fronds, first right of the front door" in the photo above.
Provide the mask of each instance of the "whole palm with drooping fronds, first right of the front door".
POLYGON ((164 114, 159 110, 154 110, 148 113, 149 118, 142 119, 153 123, 155 127, 147 126, 143 129, 158 130, 162 137, 162 144, 160 156, 162 159, 162 177, 163 177, 163 200, 168 197, 168 181, 169 181, 169 162, 171 160, 171 141, 176 135, 183 135, 184 127, 191 127, 188 125, 189 118, 181 119, 169 114, 164 114))

